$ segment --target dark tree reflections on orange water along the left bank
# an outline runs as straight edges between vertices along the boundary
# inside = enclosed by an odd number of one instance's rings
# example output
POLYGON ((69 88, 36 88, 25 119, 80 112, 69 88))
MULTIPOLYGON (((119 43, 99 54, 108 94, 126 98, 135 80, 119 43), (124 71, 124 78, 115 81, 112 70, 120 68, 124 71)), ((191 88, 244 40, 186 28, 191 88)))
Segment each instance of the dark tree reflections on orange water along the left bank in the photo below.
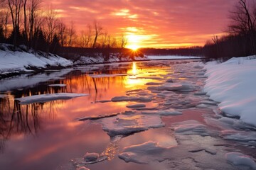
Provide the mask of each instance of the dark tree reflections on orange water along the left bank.
MULTIPOLYGON (((108 65, 93 74, 127 74, 127 70, 127 67, 120 69, 119 66, 113 68, 108 65)), ((90 94, 89 99, 97 101, 104 96, 112 84, 124 86, 126 79, 125 77, 92 78, 88 74, 91 72, 83 73, 81 70, 75 70, 65 75, 65 79, 48 80, 31 87, 6 92, 6 97, 0 98, 0 152, 4 151, 5 142, 11 137, 36 136, 42 128, 41 122, 46 119, 43 114, 48 114, 48 118, 54 120, 55 113, 58 112, 56 109, 65 104, 65 101, 50 101, 20 105, 14 98, 39 94, 85 93, 90 94), (66 84, 66 86, 48 86, 48 84, 66 84)))

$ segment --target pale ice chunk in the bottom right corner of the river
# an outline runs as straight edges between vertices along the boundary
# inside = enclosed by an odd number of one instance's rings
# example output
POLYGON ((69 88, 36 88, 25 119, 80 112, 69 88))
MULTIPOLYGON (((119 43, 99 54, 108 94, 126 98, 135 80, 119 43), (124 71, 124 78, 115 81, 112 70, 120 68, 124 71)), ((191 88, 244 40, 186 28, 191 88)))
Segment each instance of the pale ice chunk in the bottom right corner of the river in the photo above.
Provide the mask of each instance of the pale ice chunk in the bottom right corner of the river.
POLYGON ((230 152, 225 154, 225 159, 235 166, 249 166, 251 169, 256 169, 256 163, 249 156, 239 153, 230 152))

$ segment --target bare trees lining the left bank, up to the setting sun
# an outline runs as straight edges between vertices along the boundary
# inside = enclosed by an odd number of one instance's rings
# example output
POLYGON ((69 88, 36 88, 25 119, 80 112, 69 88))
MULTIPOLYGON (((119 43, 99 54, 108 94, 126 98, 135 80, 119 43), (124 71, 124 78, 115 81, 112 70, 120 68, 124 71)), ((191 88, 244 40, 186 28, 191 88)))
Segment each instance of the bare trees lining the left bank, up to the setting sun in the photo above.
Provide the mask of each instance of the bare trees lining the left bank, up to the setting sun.
POLYGON ((123 49, 127 45, 124 35, 112 37, 97 21, 78 33, 73 21, 63 23, 53 8, 41 6, 42 1, 0 0, 0 42, 47 53, 60 47, 123 49))

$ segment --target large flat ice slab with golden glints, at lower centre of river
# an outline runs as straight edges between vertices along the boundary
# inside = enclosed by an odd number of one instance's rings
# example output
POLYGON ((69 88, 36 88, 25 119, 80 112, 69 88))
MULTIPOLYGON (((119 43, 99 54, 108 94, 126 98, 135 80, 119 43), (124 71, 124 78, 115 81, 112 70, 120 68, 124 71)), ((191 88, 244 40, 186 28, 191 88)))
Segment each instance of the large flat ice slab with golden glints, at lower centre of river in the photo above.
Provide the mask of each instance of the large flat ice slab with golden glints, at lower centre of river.
POLYGON ((97 120, 102 124, 103 130, 108 135, 131 135, 135 132, 142 132, 149 128, 164 127, 158 115, 117 115, 111 118, 97 120))

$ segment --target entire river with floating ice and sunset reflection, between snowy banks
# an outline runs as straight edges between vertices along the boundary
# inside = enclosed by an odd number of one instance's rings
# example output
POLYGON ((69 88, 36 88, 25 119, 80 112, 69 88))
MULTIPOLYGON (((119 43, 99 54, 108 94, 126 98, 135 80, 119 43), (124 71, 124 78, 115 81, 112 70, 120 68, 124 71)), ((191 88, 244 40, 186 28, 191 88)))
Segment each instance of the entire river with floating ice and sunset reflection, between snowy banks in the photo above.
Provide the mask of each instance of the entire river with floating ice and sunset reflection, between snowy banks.
POLYGON ((256 142, 228 138, 255 129, 220 113, 203 92, 205 71, 198 60, 164 60, 0 80, 0 167, 256 169, 256 142))

